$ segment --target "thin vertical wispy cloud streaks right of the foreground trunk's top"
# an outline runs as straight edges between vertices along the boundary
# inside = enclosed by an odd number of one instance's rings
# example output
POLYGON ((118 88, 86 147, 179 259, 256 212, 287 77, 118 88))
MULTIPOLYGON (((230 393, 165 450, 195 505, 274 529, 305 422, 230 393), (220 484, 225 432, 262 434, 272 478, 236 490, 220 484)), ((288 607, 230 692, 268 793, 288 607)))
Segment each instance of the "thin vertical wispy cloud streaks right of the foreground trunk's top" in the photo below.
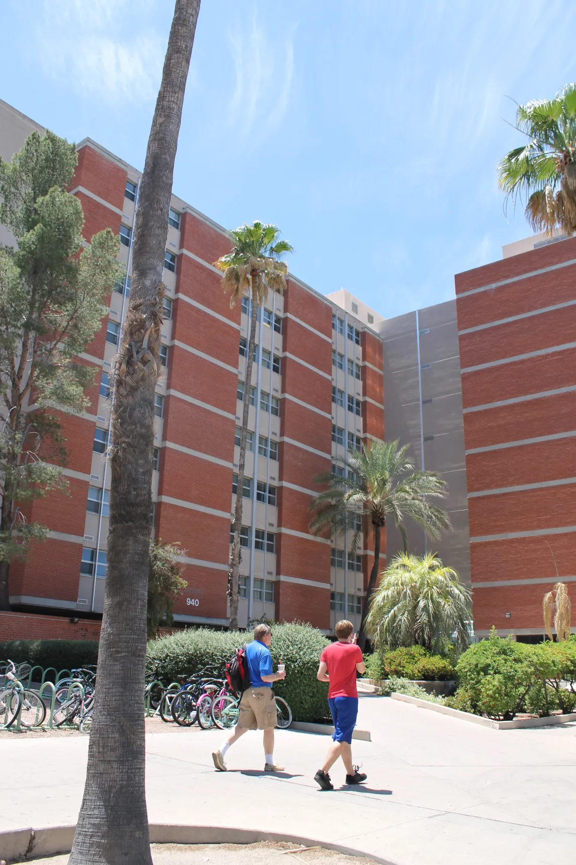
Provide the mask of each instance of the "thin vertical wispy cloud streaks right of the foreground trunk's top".
POLYGON ((263 144, 282 125, 294 79, 294 29, 288 31, 281 51, 272 45, 256 14, 250 30, 229 30, 227 41, 234 61, 235 86, 227 112, 227 125, 243 144, 263 144))

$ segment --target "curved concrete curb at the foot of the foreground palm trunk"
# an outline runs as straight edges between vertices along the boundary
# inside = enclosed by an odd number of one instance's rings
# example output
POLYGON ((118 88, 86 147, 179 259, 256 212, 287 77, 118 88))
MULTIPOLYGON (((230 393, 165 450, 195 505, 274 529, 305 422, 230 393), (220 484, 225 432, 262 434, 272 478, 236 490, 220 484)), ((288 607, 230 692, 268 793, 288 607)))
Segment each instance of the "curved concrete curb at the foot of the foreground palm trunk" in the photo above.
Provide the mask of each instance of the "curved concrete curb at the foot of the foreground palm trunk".
MULTIPOLYGON (((75 826, 50 826, 45 829, 20 829, 0 832, 0 855, 6 862, 22 862, 69 853, 72 849, 75 826)), ((254 844, 259 841, 284 841, 313 847, 320 844, 328 850, 351 856, 363 856, 380 865, 394 865, 389 859, 365 853, 343 844, 319 841, 281 832, 235 829, 226 826, 185 826, 180 823, 150 823, 151 844, 254 844)))

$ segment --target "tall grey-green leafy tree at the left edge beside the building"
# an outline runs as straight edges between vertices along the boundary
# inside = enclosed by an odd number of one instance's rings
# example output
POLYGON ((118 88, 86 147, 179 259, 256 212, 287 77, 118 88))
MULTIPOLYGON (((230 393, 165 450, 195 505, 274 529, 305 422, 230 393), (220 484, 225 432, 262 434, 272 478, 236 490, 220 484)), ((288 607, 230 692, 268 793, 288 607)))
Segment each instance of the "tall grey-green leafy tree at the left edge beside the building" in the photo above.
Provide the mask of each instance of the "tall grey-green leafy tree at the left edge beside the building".
POLYGON ((9 563, 47 528, 28 522, 32 499, 65 488, 58 415, 81 412, 93 367, 79 353, 99 330, 119 275, 110 229, 84 247, 82 205, 68 195, 74 144, 33 132, 10 163, 0 158, 0 221, 15 247, 0 247, 0 609, 9 609, 9 563))

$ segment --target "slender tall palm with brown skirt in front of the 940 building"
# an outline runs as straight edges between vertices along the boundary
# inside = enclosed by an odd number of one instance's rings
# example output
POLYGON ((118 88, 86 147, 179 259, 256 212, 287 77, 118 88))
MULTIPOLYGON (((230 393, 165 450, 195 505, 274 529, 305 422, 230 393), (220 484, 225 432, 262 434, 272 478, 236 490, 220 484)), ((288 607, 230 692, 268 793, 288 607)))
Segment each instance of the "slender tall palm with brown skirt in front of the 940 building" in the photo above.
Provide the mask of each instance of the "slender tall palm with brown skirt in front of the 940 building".
POLYGON ((246 379, 244 385, 244 408, 240 433, 240 453, 238 457, 238 484, 234 506, 234 541, 231 549, 230 579, 228 595, 230 598, 230 630, 238 626, 238 581, 240 574, 240 529, 242 528, 242 500, 244 490, 244 463, 246 459, 246 439, 248 435, 248 410, 250 407, 250 381, 252 362, 256 349, 256 318, 258 307, 268 298, 269 289, 283 292, 286 288, 288 265, 282 255, 292 252, 288 240, 278 240, 280 230, 275 225, 253 222, 231 232, 234 247, 231 253, 223 255, 214 265, 224 272, 222 286, 230 294, 231 307, 244 296, 251 298, 250 336, 246 356, 246 379))

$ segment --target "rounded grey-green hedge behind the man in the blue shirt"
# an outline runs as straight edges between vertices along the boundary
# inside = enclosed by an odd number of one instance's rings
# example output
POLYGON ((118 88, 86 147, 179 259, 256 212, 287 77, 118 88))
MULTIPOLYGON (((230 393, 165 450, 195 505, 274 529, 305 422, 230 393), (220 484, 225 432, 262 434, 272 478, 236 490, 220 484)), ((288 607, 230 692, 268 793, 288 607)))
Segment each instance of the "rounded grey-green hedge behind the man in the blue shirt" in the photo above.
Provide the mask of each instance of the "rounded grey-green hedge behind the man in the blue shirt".
MULTIPOLYGON (((252 635, 244 631, 209 631, 188 628, 148 644, 147 669, 160 665, 160 675, 173 681, 175 676, 191 676, 207 664, 228 660, 233 651, 252 635)), ((318 721, 329 714, 328 686, 316 678, 320 654, 328 640, 321 631, 298 623, 272 625, 272 660, 286 664, 286 679, 275 682, 274 692, 292 709, 294 721, 318 721)))

